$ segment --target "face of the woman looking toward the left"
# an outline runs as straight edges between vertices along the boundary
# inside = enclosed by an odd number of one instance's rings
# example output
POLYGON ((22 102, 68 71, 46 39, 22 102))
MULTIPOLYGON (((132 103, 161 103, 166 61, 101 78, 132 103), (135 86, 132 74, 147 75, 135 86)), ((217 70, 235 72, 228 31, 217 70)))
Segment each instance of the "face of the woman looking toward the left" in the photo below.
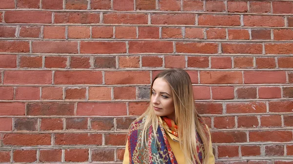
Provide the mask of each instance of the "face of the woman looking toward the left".
POLYGON ((157 116, 167 116, 175 121, 173 95, 169 84, 163 78, 157 78, 152 86, 151 104, 157 116))

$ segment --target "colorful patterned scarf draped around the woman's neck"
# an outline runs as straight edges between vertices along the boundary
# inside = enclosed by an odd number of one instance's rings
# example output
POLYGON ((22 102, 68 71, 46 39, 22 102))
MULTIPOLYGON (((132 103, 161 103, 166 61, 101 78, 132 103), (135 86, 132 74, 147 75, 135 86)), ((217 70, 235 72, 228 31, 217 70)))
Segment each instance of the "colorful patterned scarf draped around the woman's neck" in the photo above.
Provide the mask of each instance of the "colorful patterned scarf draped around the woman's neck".
MULTIPOLYGON (((163 117, 162 121, 162 119, 159 117, 159 120, 159 126, 156 131, 158 142, 155 143, 155 137, 152 132, 152 125, 150 125, 146 131, 146 134, 148 134, 146 137, 147 145, 143 146, 141 146, 141 141, 144 137, 142 131, 146 117, 131 125, 131 129, 127 136, 130 164, 177 164, 163 128, 164 126, 167 130, 167 134, 171 137, 172 140, 179 141, 177 138, 177 125, 175 126, 175 123, 168 118, 163 117)), ((202 163, 202 154, 204 151, 203 145, 201 144, 202 141, 200 140, 198 134, 196 138, 198 141, 196 146, 198 157, 202 163)))

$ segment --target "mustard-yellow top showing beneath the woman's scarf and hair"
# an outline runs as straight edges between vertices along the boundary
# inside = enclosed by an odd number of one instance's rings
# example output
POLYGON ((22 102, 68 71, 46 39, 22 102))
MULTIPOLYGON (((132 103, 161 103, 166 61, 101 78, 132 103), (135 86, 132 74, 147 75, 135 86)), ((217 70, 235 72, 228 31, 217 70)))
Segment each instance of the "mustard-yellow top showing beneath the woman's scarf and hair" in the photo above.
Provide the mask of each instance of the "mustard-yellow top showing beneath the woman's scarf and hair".
MULTIPOLYGON (((208 127, 208 126, 207 126, 208 127)), ((165 129, 165 127, 164 127, 165 129)), ((208 128, 209 129, 209 128, 208 128)), ((169 133, 166 129, 165 129, 166 133, 169 133)), ((183 151, 180 148, 180 145, 178 142, 173 141, 169 135, 166 135, 168 142, 171 146, 171 149, 174 153, 174 156, 177 160, 178 164, 186 164, 185 163, 185 158, 184 158, 184 154, 183 151)), ((207 164, 214 164, 215 163, 215 157, 212 153, 212 145, 211 145, 211 137, 210 137, 210 133, 209 133, 209 156, 208 156, 209 162, 207 164)), ((126 148, 125 148, 125 153, 124 153, 124 159, 123 159, 123 164, 129 164, 129 152, 128 152, 128 142, 126 142, 126 148)))

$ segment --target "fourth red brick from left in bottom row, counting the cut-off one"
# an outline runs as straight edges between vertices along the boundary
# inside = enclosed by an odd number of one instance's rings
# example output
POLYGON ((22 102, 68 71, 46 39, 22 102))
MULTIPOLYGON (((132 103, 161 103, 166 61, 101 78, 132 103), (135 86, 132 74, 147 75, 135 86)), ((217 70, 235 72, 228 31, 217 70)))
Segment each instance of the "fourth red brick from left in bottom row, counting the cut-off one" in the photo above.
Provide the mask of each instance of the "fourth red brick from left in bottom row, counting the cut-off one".
POLYGON ((87 162, 88 149, 66 149, 65 162, 87 162))

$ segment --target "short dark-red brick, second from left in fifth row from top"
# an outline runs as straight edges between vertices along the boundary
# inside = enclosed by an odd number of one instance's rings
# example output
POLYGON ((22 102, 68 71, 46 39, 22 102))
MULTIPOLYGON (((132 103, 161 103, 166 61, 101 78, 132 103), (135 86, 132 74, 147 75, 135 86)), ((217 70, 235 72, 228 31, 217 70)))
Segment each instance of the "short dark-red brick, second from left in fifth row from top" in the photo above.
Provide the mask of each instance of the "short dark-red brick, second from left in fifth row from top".
POLYGON ((20 56, 21 68, 42 68, 42 56, 20 56))

